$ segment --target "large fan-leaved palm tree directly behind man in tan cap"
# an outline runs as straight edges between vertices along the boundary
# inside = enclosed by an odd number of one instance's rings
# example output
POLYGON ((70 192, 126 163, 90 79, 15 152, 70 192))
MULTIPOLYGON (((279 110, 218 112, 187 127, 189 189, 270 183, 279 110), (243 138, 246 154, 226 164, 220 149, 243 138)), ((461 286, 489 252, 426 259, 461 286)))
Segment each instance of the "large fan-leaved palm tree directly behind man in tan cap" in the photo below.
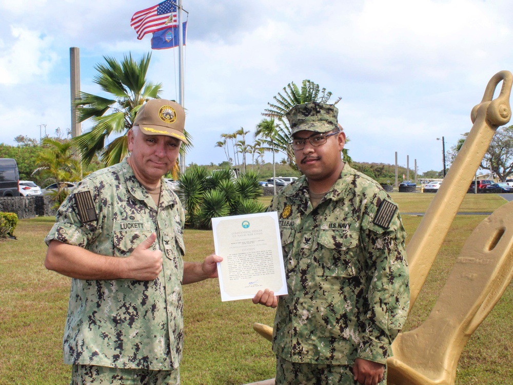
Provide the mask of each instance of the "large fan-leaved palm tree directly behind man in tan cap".
MULTIPOLYGON (((109 56, 104 56, 104 59, 105 64, 94 67, 98 74, 94 76, 93 82, 110 94, 111 99, 80 92, 75 101, 78 121, 91 119, 93 126, 90 131, 74 138, 74 143, 85 164, 100 152, 102 162, 109 166, 121 162, 128 155, 126 133, 132 128, 135 114, 143 103, 159 98, 162 84, 146 80, 151 53, 139 61, 133 59, 131 53, 125 55, 121 62, 109 56), (105 146, 111 134, 117 138, 105 146)), ((184 134, 189 138, 187 132, 184 134)), ((191 143, 190 140, 188 142, 191 143)), ((181 153, 185 153, 189 146, 182 145, 181 153)))

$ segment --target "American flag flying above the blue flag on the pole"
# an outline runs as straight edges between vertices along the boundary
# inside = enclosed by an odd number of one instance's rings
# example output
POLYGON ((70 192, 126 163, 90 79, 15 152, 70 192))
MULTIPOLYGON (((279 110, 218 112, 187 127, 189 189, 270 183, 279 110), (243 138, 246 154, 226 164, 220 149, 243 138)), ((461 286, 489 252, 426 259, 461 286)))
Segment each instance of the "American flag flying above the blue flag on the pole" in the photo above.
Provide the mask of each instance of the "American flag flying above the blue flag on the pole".
POLYGON ((139 40, 147 33, 160 31, 173 25, 178 25, 178 15, 176 13, 176 4, 171 0, 166 0, 153 7, 135 12, 130 22, 130 26, 137 32, 139 40))

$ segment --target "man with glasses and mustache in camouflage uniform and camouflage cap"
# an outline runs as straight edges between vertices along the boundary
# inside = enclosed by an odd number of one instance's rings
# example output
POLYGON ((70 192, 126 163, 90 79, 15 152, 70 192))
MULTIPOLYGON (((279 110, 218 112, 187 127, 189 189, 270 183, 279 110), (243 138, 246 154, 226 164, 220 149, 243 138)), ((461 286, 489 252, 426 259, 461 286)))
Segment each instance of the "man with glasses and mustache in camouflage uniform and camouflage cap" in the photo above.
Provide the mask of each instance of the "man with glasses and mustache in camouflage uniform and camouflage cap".
POLYGON ((409 305, 406 233, 396 204, 344 164, 345 134, 333 105, 294 106, 286 117, 304 176, 273 198, 288 295, 273 335, 279 384, 386 383, 390 344, 409 305))

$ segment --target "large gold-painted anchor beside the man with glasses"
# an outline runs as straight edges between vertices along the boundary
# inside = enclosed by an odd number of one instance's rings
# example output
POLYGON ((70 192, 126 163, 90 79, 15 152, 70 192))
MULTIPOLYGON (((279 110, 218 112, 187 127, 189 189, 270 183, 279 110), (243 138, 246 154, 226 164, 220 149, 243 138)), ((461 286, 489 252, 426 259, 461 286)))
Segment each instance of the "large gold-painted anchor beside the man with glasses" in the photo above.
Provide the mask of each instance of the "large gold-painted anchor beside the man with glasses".
MULTIPOLYGON (((410 266, 410 309, 426 280, 449 227, 495 131, 509 122, 513 76, 495 74, 480 104, 472 108, 472 128, 444 183, 426 210, 406 255, 410 266), (496 99, 494 92, 502 81, 496 99)), ((465 242, 429 317, 419 328, 400 333, 388 358, 390 385, 452 385, 461 352, 493 309, 513 277, 513 202, 482 221, 465 242)), ((272 340, 272 328, 253 329, 272 340)), ((274 380, 255 382, 273 384, 274 380)))

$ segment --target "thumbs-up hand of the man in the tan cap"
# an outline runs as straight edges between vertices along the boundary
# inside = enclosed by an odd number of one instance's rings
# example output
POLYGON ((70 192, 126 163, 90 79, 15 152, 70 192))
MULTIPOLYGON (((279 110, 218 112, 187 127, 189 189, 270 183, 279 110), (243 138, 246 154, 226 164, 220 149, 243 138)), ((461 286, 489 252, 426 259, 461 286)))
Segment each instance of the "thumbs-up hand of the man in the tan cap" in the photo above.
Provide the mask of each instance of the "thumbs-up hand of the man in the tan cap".
POLYGON ((162 271, 162 252, 150 250, 155 239, 156 234, 152 233, 134 248, 130 256, 125 258, 126 279, 151 281, 159 276, 162 271))

